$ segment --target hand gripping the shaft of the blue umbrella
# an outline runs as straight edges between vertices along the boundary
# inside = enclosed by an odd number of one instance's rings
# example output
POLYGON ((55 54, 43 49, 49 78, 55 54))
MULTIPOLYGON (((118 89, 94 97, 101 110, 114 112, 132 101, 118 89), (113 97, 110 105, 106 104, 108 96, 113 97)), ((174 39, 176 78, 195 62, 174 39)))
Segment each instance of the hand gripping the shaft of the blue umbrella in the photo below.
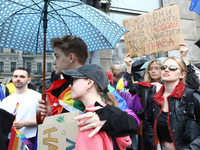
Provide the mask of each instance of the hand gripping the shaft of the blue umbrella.
POLYGON ((51 105, 50 105, 48 99, 46 98, 46 101, 43 99, 39 99, 38 103, 39 103, 39 105, 37 107, 37 110, 40 111, 41 115, 45 116, 45 117, 50 116, 51 115, 51 105))

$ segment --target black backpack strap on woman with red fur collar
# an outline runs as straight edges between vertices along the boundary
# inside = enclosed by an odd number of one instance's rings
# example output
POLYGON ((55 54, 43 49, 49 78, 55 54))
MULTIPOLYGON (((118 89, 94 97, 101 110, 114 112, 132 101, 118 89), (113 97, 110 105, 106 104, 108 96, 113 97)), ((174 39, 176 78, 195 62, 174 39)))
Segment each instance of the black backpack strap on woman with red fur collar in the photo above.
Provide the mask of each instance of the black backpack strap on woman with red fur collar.
POLYGON ((193 119, 196 120, 196 116, 194 113, 194 89, 190 89, 186 87, 186 97, 185 97, 185 102, 186 102, 186 116, 187 119, 193 119))

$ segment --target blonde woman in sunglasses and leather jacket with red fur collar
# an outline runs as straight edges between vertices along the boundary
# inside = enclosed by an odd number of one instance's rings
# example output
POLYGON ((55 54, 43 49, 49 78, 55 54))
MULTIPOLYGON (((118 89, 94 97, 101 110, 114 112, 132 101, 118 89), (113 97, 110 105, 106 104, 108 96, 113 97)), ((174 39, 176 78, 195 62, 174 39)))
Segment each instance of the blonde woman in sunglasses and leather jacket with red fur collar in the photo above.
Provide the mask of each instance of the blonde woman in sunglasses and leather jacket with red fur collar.
MULTIPOLYGON (((194 110, 197 126, 200 126, 200 93, 185 86, 186 74, 185 63, 177 57, 167 58, 161 67, 163 86, 153 96, 152 109, 145 117, 148 145, 154 143, 155 150, 158 143, 166 150, 199 149, 200 147, 200 136, 197 135, 189 141, 184 135, 188 107, 193 107, 190 109, 194 110), (187 99, 193 99, 193 102, 189 104, 187 99), (187 106, 188 104, 191 106, 187 106)), ((189 126, 193 128, 191 124, 189 126)))

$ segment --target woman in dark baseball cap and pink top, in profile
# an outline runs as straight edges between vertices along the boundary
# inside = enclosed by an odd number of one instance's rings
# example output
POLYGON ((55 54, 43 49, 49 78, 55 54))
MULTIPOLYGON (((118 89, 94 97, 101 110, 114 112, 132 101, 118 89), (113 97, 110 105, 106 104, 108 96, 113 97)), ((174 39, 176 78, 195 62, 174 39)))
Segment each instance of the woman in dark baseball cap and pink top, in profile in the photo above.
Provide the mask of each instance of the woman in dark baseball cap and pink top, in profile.
MULTIPOLYGON (((86 108, 93 107, 95 103, 105 106, 107 103, 117 105, 115 97, 108 92, 107 85, 108 78, 105 71, 98 65, 89 64, 84 65, 77 70, 63 70, 64 78, 71 78, 71 97, 74 100, 81 101, 86 108), (102 94, 106 93, 105 100, 102 99, 102 94), (106 104, 105 104, 106 103, 106 104)), ((86 113, 86 110, 84 111, 86 113)), ((99 113, 97 111, 96 113, 99 113)), ((131 144, 129 136, 115 138, 117 144, 113 144, 111 136, 107 135, 105 131, 101 131, 94 137, 90 138, 93 129, 93 124, 90 125, 91 129, 79 133, 76 140, 76 150, 79 149, 126 149, 131 144)))

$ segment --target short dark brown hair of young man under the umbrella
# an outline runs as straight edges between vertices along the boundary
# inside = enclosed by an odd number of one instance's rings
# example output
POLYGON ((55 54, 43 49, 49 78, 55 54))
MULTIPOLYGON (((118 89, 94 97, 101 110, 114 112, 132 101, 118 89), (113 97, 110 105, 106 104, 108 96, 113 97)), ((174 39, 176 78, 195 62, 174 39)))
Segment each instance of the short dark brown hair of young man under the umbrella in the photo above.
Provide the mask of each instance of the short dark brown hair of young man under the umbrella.
POLYGON ((78 57, 79 63, 82 65, 86 63, 86 59, 89 55, 86 43, 81 38, 73 35, 65 35, 61 38, 52 38, 51 46, 53 48, 60 48, 66 56, 70 53, 74 53, 78 57))

